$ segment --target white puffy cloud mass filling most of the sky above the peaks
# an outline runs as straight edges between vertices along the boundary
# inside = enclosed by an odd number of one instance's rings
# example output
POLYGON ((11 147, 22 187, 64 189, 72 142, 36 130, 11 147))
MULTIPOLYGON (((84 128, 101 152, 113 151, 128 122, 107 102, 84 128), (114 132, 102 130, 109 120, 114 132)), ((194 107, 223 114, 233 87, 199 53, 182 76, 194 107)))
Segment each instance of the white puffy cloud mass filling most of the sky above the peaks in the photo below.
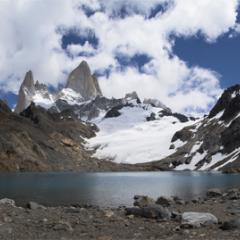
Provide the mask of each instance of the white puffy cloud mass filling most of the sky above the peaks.
POLYGON ((106 96, 136 90, 141 98, 158 98, 175 111, 207 111, 221 93, 220 76, 179 59, 174 39, 201 35, 214 42, 237 31, 238 4, 238 0, 0 1, 0 86, 16 92, 24 73, 32 69, 36 79, 56 87, 85 59, 101 73, 106 96), (72 29, 86 41, 63 49, 62 37, 72 29), (97 46, 89 34, 94 34, 97 46), (139 54, 150 59, 141 69, 121 66, 119 56, 131 60, 139 54))

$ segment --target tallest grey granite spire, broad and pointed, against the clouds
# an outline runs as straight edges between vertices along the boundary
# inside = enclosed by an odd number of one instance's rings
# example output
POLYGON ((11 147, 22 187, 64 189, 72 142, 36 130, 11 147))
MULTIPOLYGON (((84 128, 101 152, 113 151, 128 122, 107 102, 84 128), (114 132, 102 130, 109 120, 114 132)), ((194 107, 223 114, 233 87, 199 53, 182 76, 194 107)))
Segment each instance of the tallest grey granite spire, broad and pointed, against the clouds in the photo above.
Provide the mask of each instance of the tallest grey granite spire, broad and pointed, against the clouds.
POLYGON ((90 68, 85 61, 81 62, 81 64, 70 73, 66 88, 73 89, 75 92, 80 93, 85 100, 102 95, 98 80, 96 76, 92 76, 90 68))

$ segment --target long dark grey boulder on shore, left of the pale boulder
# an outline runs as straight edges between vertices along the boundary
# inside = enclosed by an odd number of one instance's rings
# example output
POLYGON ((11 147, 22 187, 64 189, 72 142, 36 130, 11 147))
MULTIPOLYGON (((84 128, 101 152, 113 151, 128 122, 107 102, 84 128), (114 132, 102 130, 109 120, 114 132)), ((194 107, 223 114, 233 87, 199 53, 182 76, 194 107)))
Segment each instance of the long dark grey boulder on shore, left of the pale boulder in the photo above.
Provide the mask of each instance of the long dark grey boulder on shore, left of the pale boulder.
POLYGON ((133 207, 126 208, 127 215, 134 215, 136 217, 154 218, 161 220, 169 220, 171 218, 171 212, 160 205, 148 205, 147 207, 133 207))

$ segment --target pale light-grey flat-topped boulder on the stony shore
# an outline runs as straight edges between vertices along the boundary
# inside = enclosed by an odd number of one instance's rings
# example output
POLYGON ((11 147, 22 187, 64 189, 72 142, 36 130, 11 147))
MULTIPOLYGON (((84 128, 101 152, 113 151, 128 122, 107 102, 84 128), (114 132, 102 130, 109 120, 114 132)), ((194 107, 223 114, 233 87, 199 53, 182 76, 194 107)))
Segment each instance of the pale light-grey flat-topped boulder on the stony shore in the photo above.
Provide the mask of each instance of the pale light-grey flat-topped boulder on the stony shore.
POLYGON ((201 227, 217 224, 218 219, 211 213, 204 212, 184 212, 182 214, 183 227, 201 227))

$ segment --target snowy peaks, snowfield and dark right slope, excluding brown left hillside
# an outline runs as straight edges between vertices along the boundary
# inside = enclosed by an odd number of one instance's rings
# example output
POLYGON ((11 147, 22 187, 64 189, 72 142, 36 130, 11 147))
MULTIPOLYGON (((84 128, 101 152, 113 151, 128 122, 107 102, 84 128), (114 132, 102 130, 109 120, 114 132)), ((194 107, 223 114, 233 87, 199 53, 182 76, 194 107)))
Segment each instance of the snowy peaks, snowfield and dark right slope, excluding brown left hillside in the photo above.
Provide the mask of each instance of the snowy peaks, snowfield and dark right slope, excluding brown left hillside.
POLYGON ((82 62, 66 87, 50 93, 28 72, 16 112, 31 102, 62 118, 92 122, 98 132, 87 140, 93 156, 148 169, 240 171, 240 85, 227 89, 208 116, 174 113, 157 99, 136 92, 120 99, 102 95, 97 78, 82 62))

